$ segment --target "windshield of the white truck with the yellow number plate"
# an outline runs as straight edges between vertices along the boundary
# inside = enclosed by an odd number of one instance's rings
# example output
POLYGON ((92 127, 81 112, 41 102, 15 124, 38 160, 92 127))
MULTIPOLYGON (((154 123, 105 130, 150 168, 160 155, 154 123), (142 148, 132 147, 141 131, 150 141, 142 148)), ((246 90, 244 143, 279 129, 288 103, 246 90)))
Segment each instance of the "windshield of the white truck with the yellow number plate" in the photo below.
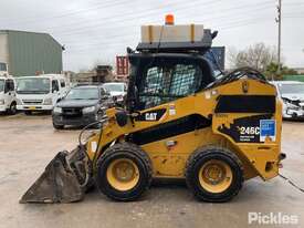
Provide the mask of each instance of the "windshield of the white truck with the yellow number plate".
POLYGON ((50 80, 49 79, 18 79, 17 80, 17 93, 20 94, 46 94, 50 93, 50 80))

